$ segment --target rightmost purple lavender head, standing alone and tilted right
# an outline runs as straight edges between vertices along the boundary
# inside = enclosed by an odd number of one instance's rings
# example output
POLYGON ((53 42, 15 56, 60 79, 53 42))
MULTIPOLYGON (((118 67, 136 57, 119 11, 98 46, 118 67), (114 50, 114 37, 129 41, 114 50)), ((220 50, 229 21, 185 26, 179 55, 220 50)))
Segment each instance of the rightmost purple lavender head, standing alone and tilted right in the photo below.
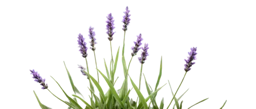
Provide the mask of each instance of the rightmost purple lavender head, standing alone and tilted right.
POLYGON ((198 47, 192 46, 187 51, 187 56, 183 59, 183 70, 185 72, 189 72, 191 67, 196 65, 196 61, 198 59, 198 47))

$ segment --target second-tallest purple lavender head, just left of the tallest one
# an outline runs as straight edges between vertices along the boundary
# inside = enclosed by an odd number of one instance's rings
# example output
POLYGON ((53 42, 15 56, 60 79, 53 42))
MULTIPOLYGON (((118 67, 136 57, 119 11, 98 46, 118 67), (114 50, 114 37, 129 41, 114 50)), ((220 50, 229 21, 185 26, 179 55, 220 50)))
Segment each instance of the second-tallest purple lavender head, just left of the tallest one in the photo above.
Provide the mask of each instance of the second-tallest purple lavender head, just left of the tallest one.
POLYGON ((106 14, 105 23, 105 34, 106 36, 108 36, 109 41, 113 41, 116 29, 115 18, 113 13, 106 14))

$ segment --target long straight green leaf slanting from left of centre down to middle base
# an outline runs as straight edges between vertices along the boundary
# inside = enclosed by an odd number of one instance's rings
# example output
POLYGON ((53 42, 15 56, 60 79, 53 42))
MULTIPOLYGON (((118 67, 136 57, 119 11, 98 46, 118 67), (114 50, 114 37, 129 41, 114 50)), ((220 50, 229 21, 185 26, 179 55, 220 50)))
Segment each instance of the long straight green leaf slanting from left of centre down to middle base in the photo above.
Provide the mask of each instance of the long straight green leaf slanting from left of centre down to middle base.
POLYGON ((101 70, 99 71, 99 73, 101 74, 102 78, 106 81, 106 84, 110 87, 110 90, 113 93, 113 96, 115 97, 115 99, 118 101, 118 103, 121 105, 121 107, 124 108, 124 105, 123 105, 122 101, 120 100, 120 98, 118 97, 118 94, 115 91, 115 87, 113 86, 113 84, 110 82, 108 77, 106 77, 106 75, 101 70))

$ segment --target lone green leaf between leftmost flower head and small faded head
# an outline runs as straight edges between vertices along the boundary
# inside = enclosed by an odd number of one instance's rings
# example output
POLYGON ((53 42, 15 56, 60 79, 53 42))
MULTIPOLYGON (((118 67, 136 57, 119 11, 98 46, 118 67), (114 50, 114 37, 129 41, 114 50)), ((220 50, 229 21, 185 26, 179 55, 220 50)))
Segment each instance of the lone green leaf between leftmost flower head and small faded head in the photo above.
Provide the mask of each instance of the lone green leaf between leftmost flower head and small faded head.
POLYGON ((70 70, 69 68, 67 67, 67 64, 66 64, 66 61, 65 60, 62 60, 62 65, 63 67, 65 68, 66 70, 66 75, 68 76, 68 80, 69 80, 69 83, 70 83, 70 88, 72 90, 72 92, 74 94, 77 94, 79 96, 81 96, 83 99, 84 99, 84 95, 81 93, 81 91, 78 89, 78 87, 75 85, 75 82, 73 80, 73 77, 70 73, 70 70))

